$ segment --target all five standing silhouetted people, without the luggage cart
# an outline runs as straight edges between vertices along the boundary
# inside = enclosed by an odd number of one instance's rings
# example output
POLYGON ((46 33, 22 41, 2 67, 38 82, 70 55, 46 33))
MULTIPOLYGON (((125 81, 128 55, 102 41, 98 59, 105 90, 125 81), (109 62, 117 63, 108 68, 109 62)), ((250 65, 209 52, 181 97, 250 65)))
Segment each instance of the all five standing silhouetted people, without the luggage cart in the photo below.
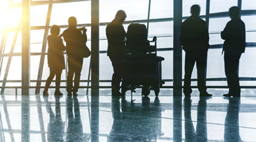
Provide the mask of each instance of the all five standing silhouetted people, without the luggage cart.
MULTIPOLYGON (((208 25, 200 18, 199 5, 190 8, 191 16, 181 25, 180 42, 186 52, 185 75, 184 75, 184 95, 190 97, 191 75, 195 63, 197 64, 197 86, 201 97, 211 97, 206 90, 206 64, 209 45, 208 25)), ((223 51, 225 62, 225 73, 228 82, 229 92, 225 97, 240 97, 239 86, 239 58, 245 50, 246 31, 244 22, 240 19, 240 10, 237 6, 229 9, 230 21, 226 24, 221 38, 225 40, 223 51)), ((112 95, 126 95, 127 86, 124 82, 124 49, 126 46, 126 31, 123 23, 126 20, 126 12, 119 10, 115 19, 106 27, 108 39, 108 56, 112 62, 114 73, 112 74, 112 95), (121 92, 120 92, 120 83, 121 92)), ((77 19, 68 19, 68 29, 60 36, 60 28, 53 25, 50 29, 51 35, 48 36, 48 66, 50 76, 47 79, 43 95, 48 95, 48 88, 52 79, 56 75, 55 95, 62 95, 59 91, 61 82, 61 72, 65 69, 65 59, 63 51, 66 49, 68 56, 68 78, 66 91, 68 95, 77 95, 79 88, 81 69, 83 66, 83 48, 87 42, 85 27, 77 28, 77 19), (61 36, 66 41, 63 45, 61 36), (74 86, 73 86, 73 78, 74 86)))

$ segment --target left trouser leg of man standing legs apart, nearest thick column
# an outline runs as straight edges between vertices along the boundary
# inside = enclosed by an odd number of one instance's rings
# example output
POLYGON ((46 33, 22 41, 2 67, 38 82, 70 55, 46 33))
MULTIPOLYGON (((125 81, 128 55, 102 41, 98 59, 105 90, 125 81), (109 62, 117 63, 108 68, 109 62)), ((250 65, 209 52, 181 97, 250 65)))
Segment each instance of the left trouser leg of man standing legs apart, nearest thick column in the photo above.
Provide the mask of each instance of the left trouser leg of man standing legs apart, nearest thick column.
POLYGON ((185 56, 185 76, 184 76, 184 94, 190 95, 191 89, 191 75, 195 65, 195 57, 191 53, 186 53, 185 56))

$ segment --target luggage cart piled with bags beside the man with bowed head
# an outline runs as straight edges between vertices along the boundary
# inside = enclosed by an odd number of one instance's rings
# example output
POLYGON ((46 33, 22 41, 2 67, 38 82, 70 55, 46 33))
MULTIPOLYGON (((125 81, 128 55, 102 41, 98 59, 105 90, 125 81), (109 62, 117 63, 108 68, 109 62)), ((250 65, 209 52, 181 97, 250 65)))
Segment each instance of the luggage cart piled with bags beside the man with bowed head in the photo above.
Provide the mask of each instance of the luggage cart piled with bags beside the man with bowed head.
POLYGON ((130 24, 128 26, 126 49, 124 55, 123 81, 128 89, 135 91, 142 88, 141 95, 149 95, 150 90, 158 96, 164 81, 161 79, 161 62, 164 58, 157 56, 157 37, 148 40, 146 25, 130 24), (154 45, 150 45, 153 43, 154 45))

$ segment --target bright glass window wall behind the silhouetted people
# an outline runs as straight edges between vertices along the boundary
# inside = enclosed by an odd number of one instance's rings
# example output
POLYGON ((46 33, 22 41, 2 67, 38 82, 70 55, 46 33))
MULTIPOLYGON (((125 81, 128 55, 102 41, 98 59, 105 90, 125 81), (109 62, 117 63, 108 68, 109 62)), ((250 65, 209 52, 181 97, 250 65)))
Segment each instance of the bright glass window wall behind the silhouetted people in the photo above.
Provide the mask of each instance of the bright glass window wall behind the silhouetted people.
MULTIPOLYGON (((230 20, 228 8, 238 5, 240 0, 211 0, 207 8, 206 0, 183 0, 184 20, 190 16, 190 7, 199 4, 202 19, 209 21, 211 49, 208 51, 207 78, 208 86, 226 86, 224 61, 221 56, 223 40, 220 32, 230 20), (206 13, 209 11, 209 13, 206 13), (207 19, 207 14, 210 18, 207 19), (218 81, 217 81, 218 80, 218 81), (219 81, 222 80, 222 81, 219 81)), ((99 0, 99 80, 100 86, 110 86, 112 78, 112 64, 106 55, 108 41, 106 40, 106 25, 115 18, 117 10, 124 10, 127 14, 127 27, 130 23, 142 23, 148 25, 148 39, 157 36, 158 55, 163 56, 162 62, 164 86, 173 86, 173 0, 99 0), (150 5, 150 7, 149 7, 150 5), (148 19, 149 18, 149 19, 148 19)), ((240 62, 239 75, 242 77, 243 86, 253 86, 256 80, 254 67, 255 43, 256 43, 256 3, 242 0, 242 20, 246 23, 246 53, 240 62)), ((21 0, 1 1, 0 18, 5 19, 0 23, 0 83, 3 86, 21 86, 21 0)), ((30 86, 40 83, 45 85, 49 75, 46 34, 49 34, 48 26, 60 25, 61 32, 68 27, 68 18, 76 16, 79 27, 86 26, 88 29, 88 47, 90 48, 90 21, 91 1, 35 1, 31 2, 30 8, 30 86), (52 4, 52 5, 51 5, 52 4), (50 8, 50 9, 49 9, 50 8), (45 38, 45 39, 44 39, 45 38), (44 57, 44 58, 43 58, 44 57), (42 73, 42 74, 40 74, 42 73), (41 81, 40 81, 41 80, 41 81)), ((177 36, 177 35, 175 35, 177 36)), ((183 51, 183 67, 184 67, 183 51)), ((66 57, 66 56, 65 56, 66 57)), ((86 86, 88 80, 88 67, 90 58, 85 58, 81 73, 81 86, 86 86)), ((184 76, 184 68, 182 71, 184 76)), ((197 77, 196 70, 193 78, 197 77)), ((66 86, 66 71, 63 71, 61 86, 66 86)), ((193 81, 193 85, 197 85, 193 81)), ((55 86, 53 83, 52 86, 55 86)), ((81 89, 84 91, 84 89, 81 89)), ((33 91, 32 91, 33 92, 33 91)))

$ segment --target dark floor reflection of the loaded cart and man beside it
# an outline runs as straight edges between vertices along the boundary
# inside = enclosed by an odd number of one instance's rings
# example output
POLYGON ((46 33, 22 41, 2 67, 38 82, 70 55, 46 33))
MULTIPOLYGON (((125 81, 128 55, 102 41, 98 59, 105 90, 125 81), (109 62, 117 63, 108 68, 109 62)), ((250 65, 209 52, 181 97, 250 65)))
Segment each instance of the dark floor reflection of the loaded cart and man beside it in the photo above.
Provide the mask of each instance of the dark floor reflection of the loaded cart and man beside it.
POLYGON ((112 97, 113 124, 108 141, 151 141, 163 135, 161 132, 161 105, 155 97, 150 104, 149 97, 143 97, 141 104, 128 103, 125 97, 112 97), (147 116, 144 117, 136 116, 147 116))

